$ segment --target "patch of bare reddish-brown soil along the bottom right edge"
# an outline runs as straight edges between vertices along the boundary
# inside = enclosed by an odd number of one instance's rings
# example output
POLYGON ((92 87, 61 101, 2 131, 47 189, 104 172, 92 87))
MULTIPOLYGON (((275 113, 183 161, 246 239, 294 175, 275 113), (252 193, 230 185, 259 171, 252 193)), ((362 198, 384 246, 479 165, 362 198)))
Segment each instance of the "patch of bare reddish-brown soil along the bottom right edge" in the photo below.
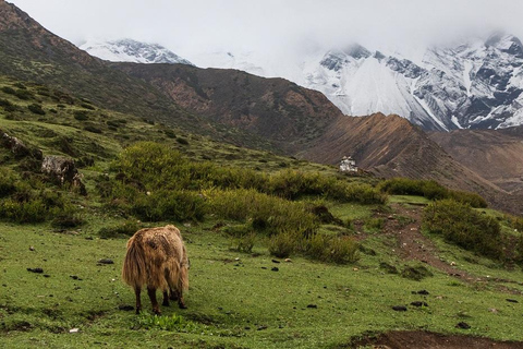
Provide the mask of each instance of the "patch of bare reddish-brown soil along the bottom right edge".
POLYGON ((496 341, 488 338, 440 335, 429 332, 391 332, 351 342, 346 348, 375 349, 523 349, 521 341, 496 341))

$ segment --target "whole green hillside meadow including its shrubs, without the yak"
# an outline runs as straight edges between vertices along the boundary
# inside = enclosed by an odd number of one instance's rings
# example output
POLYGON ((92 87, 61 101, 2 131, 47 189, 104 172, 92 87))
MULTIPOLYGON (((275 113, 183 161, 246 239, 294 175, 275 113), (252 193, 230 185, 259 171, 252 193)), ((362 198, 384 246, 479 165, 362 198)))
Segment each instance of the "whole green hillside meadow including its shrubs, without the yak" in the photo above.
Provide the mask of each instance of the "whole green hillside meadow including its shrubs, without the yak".
POLYGON ((345 177, 5 77, 0 129, 74 158, 88 193, 0 148, 0 347, 345 348, 404 329, 523 341, 521 218, 477 195, 345 177), (393 205, 425 215, 437 256, 474 278, 403 258, 399 231, 385 228, 411 220, 393 205), (441 233, 436 222, 455 226, 457 207, 474 229, 492 227, 501 248, 465 250, 469 237, 441 233), (181 229, 191 258, 188 308, 156 316, 143 292, 136 315, 120 277, 125 243, 167 224, 181 229), (409 268, 427 273, 415 280, 409 268))

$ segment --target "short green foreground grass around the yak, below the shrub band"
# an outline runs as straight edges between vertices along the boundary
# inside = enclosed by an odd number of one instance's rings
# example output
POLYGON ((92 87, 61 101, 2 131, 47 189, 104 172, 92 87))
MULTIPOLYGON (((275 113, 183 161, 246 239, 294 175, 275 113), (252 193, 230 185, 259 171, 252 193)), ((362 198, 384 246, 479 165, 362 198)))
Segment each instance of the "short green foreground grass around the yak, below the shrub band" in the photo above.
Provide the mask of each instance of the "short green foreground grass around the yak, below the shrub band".
MULTIPOLYGON (((475 285, 457 282, 435 269, 434 277, 422 281, 382 274, 377 267, 381 253, 363 254, 356 270, 300 257, 275 264, 265 246, 255 246, 258 256, 232 252, 229 238, 208 228, 182 228, 191 256, 188 309, 162 308, 165 316, 181 315, 186 326, 165 330, 149 325, 147 330, 141 324, 153 322, 147 320, 151 315, 145 294, 144 315, 118 309, 134 305, 132 290, 120 280, 124 239, 98 239, 89 227, 80 234, 60 234, 47 226, 2 225, 1 341, 5 347, 51 348, 100 342, 133 348, 144 341, 186 348, 325 348, 368 330, 462 333, 454 328, 460 321, 471 324, 470 335, 521 339, 521 305, 506 301, 521 300, 519 296, 490 288, 477 291, 475 285), (107 257, 115 264, 97 265, 107 257), (273 266, 279 272, 270 270, 273 266), (27 267, 42 267, 50 277, 27 267), (421 289, 430 294, 412 294, 421 289), (429 306, 409 306, 416 300, 429 306), (408 305, 409 311, 398 313, 392 305, 408 305), (499 312, 489 312, 492 308, 499 312), (24 325, 27 330, 14 330, 24 325), (70 334, 72 328, 80 332, 70 334)), ((512 275, 521 279, 522 273, 512 275)))

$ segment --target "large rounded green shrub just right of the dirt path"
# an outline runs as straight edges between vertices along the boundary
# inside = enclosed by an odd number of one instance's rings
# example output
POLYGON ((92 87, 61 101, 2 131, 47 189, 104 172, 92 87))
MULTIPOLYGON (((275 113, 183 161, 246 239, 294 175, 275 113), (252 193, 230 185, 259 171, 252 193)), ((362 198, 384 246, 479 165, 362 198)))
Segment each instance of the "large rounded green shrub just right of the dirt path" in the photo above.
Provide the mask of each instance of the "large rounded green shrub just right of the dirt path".
POLYGON ((502 236, 499 222, 453 200, 437 201, 424 210, 423 225, 445 240, 478 254, 501 258, 502 236))

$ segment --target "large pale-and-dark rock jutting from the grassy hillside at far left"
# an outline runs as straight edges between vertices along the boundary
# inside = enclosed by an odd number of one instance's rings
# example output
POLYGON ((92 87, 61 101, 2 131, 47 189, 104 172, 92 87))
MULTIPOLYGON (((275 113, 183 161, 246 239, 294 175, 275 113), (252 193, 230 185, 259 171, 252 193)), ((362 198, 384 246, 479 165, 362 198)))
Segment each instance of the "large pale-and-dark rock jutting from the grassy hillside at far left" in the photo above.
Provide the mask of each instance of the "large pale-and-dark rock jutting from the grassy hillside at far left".
POLYGON ((41 171, 58 182, 60 185, 65 183, 80 189, 82 195, 87 195, 82 174, 76 169, 74 160, 71 158, 49 155, 41 161, 41 171))

